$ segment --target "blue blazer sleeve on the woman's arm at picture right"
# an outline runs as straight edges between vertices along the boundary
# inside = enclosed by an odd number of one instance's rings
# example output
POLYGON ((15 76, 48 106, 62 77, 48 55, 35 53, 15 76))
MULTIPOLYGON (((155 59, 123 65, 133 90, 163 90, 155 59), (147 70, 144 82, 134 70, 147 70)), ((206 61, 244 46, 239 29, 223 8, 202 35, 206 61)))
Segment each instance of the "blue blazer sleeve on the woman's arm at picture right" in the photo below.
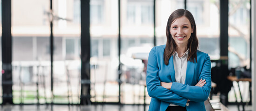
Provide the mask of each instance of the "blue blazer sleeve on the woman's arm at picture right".
POLYGON ((202 70, 200 72, 199 80, 205 79, 206 84, 202 87, 200 86, 189 86, 177 82, 173 82, 170 91, 180 95, 181 97, 187 98, 195 102, 203 102, 208 99, 209 93, 211 91, 211 61, 208 54, 206 54, 202 70))

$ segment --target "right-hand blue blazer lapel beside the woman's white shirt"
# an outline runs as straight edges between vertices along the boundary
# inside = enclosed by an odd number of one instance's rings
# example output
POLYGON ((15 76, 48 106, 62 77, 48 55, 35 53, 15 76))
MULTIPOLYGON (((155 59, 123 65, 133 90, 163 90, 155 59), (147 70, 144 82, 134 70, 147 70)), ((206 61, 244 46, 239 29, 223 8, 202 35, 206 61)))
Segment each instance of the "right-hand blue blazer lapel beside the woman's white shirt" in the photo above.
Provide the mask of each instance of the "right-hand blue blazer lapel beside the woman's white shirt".
POLYGON ((195 63, 194 62, 187 62, 187 71, 186 71, 186 80, 185 84, 191 85, 192 84, 192 79, 194 75, 194 68, 195 68, 195 63))

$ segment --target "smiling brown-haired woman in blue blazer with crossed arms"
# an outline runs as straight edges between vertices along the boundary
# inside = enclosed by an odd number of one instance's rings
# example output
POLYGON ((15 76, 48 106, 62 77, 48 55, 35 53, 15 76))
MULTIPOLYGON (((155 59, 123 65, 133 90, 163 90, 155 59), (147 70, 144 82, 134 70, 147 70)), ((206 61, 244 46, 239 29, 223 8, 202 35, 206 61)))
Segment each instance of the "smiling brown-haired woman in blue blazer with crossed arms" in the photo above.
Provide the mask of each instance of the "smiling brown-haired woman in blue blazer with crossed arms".
POLYGON ((149 53, 146 84, 149 111, 205 111, 211 90, 211 62, 198 48, 193 15, 174 11, 166 26, 166 45, 149 53))

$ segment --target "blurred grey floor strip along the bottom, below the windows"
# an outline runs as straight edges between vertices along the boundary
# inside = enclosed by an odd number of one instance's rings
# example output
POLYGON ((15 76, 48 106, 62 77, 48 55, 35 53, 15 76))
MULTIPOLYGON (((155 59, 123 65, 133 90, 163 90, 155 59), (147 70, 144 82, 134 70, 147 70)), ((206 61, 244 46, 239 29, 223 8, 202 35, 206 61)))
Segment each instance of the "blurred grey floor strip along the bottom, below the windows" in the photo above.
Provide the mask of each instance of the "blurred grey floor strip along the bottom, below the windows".
MULTIPOLYGON (((229 111, 238 111, 236 105, 227 107, 229 111)), ((148 111, 148 105, 2 105, 0 111, 148 111)), ((252 111, 251 105, 245 111, 252 111)))

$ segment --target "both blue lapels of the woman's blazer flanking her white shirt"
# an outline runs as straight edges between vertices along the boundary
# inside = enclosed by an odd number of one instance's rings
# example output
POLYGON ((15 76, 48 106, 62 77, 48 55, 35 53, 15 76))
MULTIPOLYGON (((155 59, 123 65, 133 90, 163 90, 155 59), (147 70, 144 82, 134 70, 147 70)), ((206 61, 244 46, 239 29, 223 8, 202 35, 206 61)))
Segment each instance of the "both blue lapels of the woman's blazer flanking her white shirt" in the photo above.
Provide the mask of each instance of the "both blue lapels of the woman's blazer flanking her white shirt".
MULTIPOLYGON (((168 68, 169 68, 172 82, 175 82, 175 70, 174 70, 174 66, 173 66, 173 56, 171 56, 171 58, 169 59, 168 68)), ((188 84, 188 85, 192 84, 194 68, 195 68, 195 63, 188 61, 185 84, 188 84)))

